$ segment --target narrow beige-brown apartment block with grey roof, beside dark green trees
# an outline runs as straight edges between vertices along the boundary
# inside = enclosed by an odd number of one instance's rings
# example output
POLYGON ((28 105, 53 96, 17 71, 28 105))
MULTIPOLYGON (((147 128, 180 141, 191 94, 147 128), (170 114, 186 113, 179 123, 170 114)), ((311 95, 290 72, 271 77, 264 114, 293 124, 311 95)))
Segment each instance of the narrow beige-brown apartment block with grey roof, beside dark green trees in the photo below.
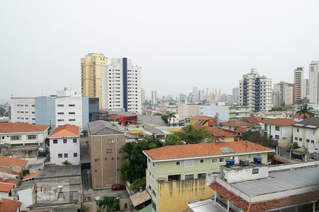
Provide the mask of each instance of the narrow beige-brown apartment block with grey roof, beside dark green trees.
POLYGON ((108 189, 113 184, 123 184, 121 167, 125 134, 111 122, 89 122, 91 179, 93 189, 108 189))

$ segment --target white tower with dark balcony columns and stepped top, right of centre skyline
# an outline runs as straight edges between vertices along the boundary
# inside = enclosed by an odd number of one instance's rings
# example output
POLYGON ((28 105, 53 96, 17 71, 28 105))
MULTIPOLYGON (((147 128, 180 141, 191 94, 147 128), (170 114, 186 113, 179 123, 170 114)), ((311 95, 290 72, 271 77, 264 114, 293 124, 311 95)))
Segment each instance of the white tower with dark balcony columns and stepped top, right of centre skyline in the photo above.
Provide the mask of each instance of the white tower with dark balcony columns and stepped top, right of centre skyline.
POLYGON ((251 69, 239 81, 239 104, 250 107, 250 112, 272 109, 272 79, 260 76, 257 69, 251 69))

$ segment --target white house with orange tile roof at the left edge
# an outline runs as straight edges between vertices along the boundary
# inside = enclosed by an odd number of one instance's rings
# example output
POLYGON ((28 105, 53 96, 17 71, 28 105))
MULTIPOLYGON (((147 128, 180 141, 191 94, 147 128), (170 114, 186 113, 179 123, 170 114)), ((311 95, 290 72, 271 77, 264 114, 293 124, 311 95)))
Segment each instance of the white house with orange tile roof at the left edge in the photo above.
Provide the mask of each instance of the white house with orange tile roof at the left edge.
POLYGON ((37 158, 45 150, 48 129, 28 123, 0 123, 0 155, 37 158))

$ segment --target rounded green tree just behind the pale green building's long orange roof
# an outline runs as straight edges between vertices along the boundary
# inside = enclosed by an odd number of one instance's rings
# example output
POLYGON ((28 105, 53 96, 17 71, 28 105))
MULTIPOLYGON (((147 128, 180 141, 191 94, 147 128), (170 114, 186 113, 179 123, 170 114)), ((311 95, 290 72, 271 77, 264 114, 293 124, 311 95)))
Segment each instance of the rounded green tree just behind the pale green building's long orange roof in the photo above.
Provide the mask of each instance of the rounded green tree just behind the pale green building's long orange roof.
POLYGON ((181 140, 186 143, 201 143, 204 139, 211 137, 211 132, 206 126, 184 126, 179 133, 181 140))

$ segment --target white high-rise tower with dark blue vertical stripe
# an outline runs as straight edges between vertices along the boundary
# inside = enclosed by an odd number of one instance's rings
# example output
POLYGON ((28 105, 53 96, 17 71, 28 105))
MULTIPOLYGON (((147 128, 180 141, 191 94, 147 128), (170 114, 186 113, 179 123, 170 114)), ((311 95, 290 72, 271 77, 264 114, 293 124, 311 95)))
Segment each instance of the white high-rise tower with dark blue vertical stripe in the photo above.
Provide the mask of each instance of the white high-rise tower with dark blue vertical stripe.
POLYGON ((102 71, 102 107, 113 111, 142 113, 141 69, 126 57, 113 58, 102 71))

